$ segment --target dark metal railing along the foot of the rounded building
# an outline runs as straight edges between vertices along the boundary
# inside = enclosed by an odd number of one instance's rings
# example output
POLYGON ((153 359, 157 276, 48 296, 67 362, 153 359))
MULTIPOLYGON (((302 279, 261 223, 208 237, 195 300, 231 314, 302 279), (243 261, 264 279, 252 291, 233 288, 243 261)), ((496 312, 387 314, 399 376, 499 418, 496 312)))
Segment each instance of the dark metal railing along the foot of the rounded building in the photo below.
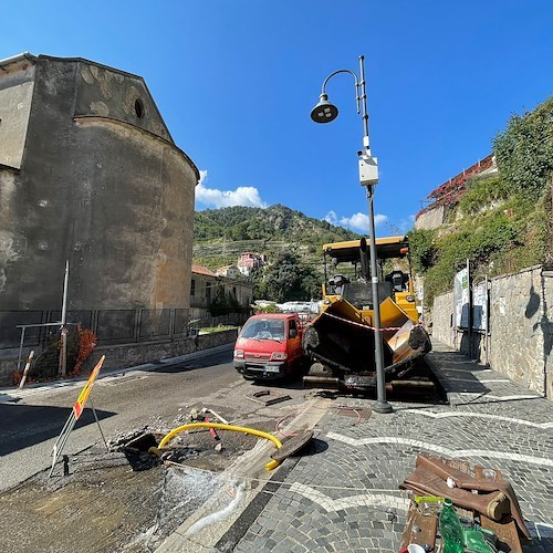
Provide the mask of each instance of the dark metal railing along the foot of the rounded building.
MULTIPOLYGON (((61 311, 0 310, 0 349, 19 347, 22 326, 27 326, 24 346, 43 346, 59 327, 41 325, 60 320, 61 311)), ((161 342, 190 334, 188 309, 69 310, 66 323, 91 330, 98 345, 161 342)))

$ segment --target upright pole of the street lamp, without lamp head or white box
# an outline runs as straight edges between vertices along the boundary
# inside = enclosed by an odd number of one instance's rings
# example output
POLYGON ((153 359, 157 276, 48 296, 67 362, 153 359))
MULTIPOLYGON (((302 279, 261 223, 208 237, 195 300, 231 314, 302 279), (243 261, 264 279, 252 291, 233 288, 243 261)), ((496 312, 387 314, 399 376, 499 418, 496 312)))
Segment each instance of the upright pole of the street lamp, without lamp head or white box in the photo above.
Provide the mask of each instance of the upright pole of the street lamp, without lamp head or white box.
MULTIPOLYGON (((361 95, 362 118, 363 118, 363 146, 365 155, 371 156, 371 143, 368 139, 368 114, 367 114, 367 94, 365 87, 365 56, 359 55, 361 82, 357 94, 361 95), (361 94, 359 94, 361 92, 361 94)), ((383 341, 380 332, 380 300, 378 296, 378 259, 376 257, 376 236, 375 236, 375 211, 374 192, 375 185, 366 186, 368 201, 368 238, 371 253, 371 282, 373 290, 373 326, 375 333, 375 368, 376 368, 376 403, 373 405, 375 413, 392 413, 392 405, 386 401, 386 380, 384 374, 383 341)))

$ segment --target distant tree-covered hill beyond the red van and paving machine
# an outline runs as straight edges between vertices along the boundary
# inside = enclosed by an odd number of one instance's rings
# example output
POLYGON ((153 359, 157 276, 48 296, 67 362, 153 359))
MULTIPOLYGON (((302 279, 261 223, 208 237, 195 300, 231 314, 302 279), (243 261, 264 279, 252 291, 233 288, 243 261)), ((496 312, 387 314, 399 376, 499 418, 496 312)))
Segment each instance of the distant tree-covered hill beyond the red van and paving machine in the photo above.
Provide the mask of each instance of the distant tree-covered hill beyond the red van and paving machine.
POLYGON ((194 263, 212 271, 237 263, 242 252, 264 254, 267 265, 249 278, 253 298, 276 302, 320 299, 322 246, 361 238, 281 205, 197 211, 194 230, 194 263))

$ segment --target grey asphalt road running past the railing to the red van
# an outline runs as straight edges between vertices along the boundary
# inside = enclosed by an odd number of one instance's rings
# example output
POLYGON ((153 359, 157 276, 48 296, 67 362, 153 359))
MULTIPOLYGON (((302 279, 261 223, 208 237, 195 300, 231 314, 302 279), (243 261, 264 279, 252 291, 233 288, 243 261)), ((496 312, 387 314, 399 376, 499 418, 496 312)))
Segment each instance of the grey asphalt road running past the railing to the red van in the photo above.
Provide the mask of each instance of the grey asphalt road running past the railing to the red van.
MULTIPOLYGON (((65 446, 75 453, 102 440, 94 406, 107 440, 144 427, 160 431, 182 424, 191 408, 209 407, 231 422, 247 426, 282 416, 303 403, 305 390, 286 385, 292 399, 278 409, 249 401, 260 388, 236 373, 231 345, 194 358, 164 361, 104 375, 65 446)), ((71 414, 84 380, 30 387, 0 404, 0 490, 50 467, 53 445, 71 414), (19 400, 18 400, 19 399, 19 400)), ((6 392, 6 390, 3 390, 6 392)))

